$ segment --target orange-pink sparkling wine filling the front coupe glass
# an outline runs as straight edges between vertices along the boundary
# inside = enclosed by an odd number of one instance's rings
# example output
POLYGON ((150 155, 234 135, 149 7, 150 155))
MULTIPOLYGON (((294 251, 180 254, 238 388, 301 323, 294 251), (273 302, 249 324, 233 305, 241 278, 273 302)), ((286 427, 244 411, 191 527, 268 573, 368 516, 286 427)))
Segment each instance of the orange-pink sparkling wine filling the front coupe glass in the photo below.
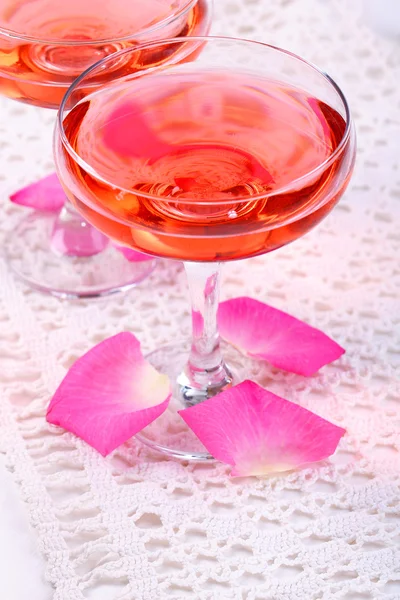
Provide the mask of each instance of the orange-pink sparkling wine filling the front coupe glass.
POLYGON ((122 244, 184 260, 246 258, 303 235, 338 201, 353 160, 345 147, 320 168, 346 128, 324 102, 189 64, 107 85, 65 128, 87 165, 61 148, 79 211, 122 244))

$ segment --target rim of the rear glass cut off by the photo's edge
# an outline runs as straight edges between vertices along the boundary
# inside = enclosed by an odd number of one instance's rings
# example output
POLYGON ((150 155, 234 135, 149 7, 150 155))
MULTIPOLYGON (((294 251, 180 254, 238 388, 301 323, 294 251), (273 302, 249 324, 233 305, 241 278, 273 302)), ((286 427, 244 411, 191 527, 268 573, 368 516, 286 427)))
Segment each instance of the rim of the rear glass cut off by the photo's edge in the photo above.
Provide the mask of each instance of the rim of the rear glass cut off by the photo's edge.
MULTIPOLYGON (((168 15, 162 21, 159 21, 154 26, 146 27, 145 29, 141 29, 138 32, 132 32, 128 35, 124 35, 121 37, 115 38, 96 38, 94 40, 76 40, 76 39, 62 39, 60 38, 38 38, 35 36, 26 35, 23 33, 19 33, 13 29, 8 29, 7 27, 0 27, 0 36, 12 39, 12 40, 20 40, 22 42, 30 42, 34 44, 51 44, 53 46, 96 46, 98 44, 115 44, 117 42, 126 42, 129 40, 135 40, 137 37, 141 37, 143 35, 153 33, 154 31, 158 31, 162 29, 166 25, 173 23, 175 20, 182 17, 186 12, 189 12, 195 4, 201 0, 186 0, 185 4, 176 12, 168 15)), ((112 55, 109 55, 112 56, 112 55)), ((95 63, 97 64, 97 63, 95 63)), ((93 65, 94 66, 94 65, 93 65)))

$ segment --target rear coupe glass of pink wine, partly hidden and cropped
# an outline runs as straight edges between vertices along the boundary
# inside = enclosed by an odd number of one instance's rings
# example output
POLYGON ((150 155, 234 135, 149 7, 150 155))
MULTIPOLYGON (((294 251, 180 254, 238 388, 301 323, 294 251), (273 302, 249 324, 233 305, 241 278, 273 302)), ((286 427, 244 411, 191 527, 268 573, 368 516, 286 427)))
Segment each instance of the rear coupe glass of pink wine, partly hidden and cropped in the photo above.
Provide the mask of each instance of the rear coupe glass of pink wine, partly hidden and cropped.
MULTIPOLYGON (((75 78, 101 58, 141 42, 206 34, 211 1, 7 0, 0 7, 0 94, 57 109, 75 78)), ((189 58, 183 45, 169 49, 189 58)), ((147 67, 169 58, 168 51, 155 52, 147 67)), ((115 61, 113 76, 136 71, 134 59, 132 54, 115 61)), ((99 72, 85 93, 108 77, 99 72)), ((5 252, 13 271, 31 287, 72 297, 127 289, 156 262, 126 260, 69 202, 58 214, 33 212, 22 219, 5 252)))

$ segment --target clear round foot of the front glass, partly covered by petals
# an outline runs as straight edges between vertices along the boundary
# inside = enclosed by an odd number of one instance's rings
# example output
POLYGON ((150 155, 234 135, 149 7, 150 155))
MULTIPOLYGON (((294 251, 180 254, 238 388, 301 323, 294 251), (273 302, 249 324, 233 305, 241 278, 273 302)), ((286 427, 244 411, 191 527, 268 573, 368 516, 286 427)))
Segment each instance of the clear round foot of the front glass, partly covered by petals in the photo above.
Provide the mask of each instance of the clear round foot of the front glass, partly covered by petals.
MULTIPOLYGON (((246 378, 251 378, 251 359, 246 358, 229 344, 222 343, 222 352, 233 375, 233 384, 237 385, 246 378), (250 367, 250 369, 249 369, 250 367)), ((190 350, 190 342, 177 342, 162 346, 146 359, 157 371, 168 375, 171 380, 172 398, 168 409, 154 423, 151 423, 136 437, 143 444, 169 457, 186 461, 214 460, 195 436, 178 411, 187 408, 177 378, 186 365, 190 350)))

